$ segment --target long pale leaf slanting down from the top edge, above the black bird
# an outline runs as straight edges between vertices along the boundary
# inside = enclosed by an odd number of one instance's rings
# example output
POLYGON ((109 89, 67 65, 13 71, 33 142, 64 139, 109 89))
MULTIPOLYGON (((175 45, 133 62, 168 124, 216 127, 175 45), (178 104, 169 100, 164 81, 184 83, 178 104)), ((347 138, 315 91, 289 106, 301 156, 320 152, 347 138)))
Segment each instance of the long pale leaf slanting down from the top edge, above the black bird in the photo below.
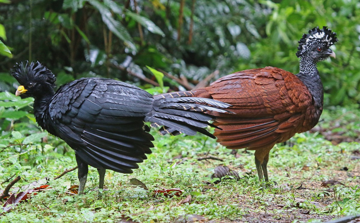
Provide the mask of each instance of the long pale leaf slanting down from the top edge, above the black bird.
POLYGON ((126 28, 118 21, 112 17, 111 11, 100 1, 98 0, 89 0, 89 3, 99 10, 101 18, 105 25, 112 31, 117 37, 119 37, 124 44, 130 49, 136 51, 136 47, 133 43, 133 40, 126 30, 126 28))

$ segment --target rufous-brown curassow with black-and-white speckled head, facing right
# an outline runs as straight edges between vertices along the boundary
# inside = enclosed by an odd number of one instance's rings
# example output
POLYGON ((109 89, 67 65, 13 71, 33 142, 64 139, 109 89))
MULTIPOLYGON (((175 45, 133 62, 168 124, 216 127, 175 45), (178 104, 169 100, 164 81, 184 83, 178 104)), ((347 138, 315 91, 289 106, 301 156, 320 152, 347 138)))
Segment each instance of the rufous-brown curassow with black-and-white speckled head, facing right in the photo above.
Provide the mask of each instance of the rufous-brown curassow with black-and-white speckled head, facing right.
MULTIPOLYGON (((260 181, 268 181, 267 161, 275 143, 285 142, 295 133, 312 129, 323 111, 323 84, 317 63, 335 53, 329 47, 337 42, 336 33, 327 27, 315 27, 299 41, 297 57, 300 72, 276 67, 239 71, 216 80, 210 86, 188 92, 156 95, 171 98, 182 94, 203 97, 233 105, 233 113, 216 113, 213 122, 221 129, 214 135, 229 149, 255 150, 255 164, 260 181)), ((163 133, 177 132, 172 128, 163 133)))

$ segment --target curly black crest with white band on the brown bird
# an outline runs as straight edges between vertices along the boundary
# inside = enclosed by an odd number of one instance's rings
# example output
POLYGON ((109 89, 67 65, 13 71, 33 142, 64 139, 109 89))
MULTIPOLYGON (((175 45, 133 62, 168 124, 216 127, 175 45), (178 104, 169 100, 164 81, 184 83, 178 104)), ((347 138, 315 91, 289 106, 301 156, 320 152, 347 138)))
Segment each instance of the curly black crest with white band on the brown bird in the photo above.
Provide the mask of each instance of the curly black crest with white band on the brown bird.
POLYGON ((316 43, 324 44, 326 48, 329 48, 337 41, 338 39, 336 38, 336 32, 332 32, 326 26, 324 26, 322 29, 315 27, 309 31, 309 34, 304 34, 299 40, 296 56, 301 57, 303 53, 307 51, 307 49, 316 43))

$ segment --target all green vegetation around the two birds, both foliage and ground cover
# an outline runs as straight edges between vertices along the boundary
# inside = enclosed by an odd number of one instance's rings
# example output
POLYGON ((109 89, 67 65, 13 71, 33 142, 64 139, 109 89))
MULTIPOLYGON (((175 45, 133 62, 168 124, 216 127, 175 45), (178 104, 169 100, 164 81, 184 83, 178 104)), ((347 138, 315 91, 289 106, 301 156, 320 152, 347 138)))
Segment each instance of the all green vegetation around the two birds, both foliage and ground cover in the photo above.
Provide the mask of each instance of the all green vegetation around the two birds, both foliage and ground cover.
MULTIPOLYGON (((0 219, 26 222, 27 216, 34 220, 44 215, 49 221, 61 218, 64 222, 71 219, 82 222, 80 219, 84 216, 89 217, 88 222, 122 217, 162 222, 174 221, 184 214, 198 214, 208 220, 226 222, 247 219, 246 215, 252 213, 261 215, 264 211, 275 216, 281 212, 274 208, 279 204, 283 206, 276 207, 285 211, 288 221, 322 214, 335 217, 356 213, 359 211, 360 189, 355 186, 359 162, 343 157, 349 158, 359 150, 358 143, 351 143, 359 142, 360 131, 357 111, 360 102, 359 12, 357 0, 0 0, 0 92, 3 92, 0 94, 0 181, 14 174, 21 175, 21 185, 49 175, 53 178, 76 162, 73 151, 62 141, 51 136, 43 138, 47 134, 41 132, 31 114, 32 99, 20 100, 11 94, 17 83, 9 70, 16 62, 40 61, 57 74, 58 85, 79 77, 99 76, 158 92, 158 88, 153 88, 158 85, 157 79, 146 66, 165 72, 165 90, 192 89, 209 76, 208 81, 212 81, 248 68, 274 66, 297 73, 297 41, 315 26, 328 26, 337 32, 339 39, 333 46, 336 59, 318 64, 325 89, 325 109, 329 111, 322 116, 325 120, 316 133, 298 135, 294 140, 298 146, 279 146, 273 156, 284 158, 273 158, 270 159, 273 163, 269 163, 273 166, 271 178, 276 182, 287 181, 286 172, 296 175, 295 179, 291 178, 292 182, 307 182, 307 189, 315 187, 314 190, 299 192, 291 184, 287 185, 289 189, 280 187, 262 192, 257 179, 253 178, 256 171, 252 154, 234 159, 215 141, 199 136, 157 137, 154 154, 134 175, 109 173, 107 185, 111 193, 102 199, 96 200, 90 191, 88 197, 82 199, 64 195, 68 186, 77 182, 73 172, 51 181, 54 191, 35 196, 31 205, 21 204, 0 219), (332 107, 339 105, 346 108, 332 107), (196 162, 196 167, 187 164, 172 169, 176 161, 172 157, 179 154, 181 158, 197 157, 203 153, 222 157, 224 161, 196 162), (203 189, 202 180, 209 180, 208 175, 220 164, 233 165, 250 177, 240 183, 221 183, 208 192, 209 189, 203 189), (345 165, 354 175, 349 177, 345 172, 337 172, 345 165), (302 169, 304 166, 310 169, 302 169), (195 171, 198 174, 194 174, 195 171), (201 177, 195 178, 195 175, 201 177), (134 191, 128 185, 132 177, 143 180, 150 192, 134 191), (350 183, 337 195, 328 195, 320 183, 332 177, 350 183), (151 191, 159 185, 181 187, 185 190, 184 196, 190 194, 196 197, 195 201, 184 208, 177 204, 184 197, 154 198, 151 191), (186 189, 188 187, 191 189, 186 189), (274 194, 275 200, 271 198, 274 194), (295 199, 304 194, 305 201, 295 199), (249 197, 251 204, 239 202, 249 197), (314 201, 330 206, 316 206, 311 203, 314 201), (228 206, 223 206, 224 203, 228 206), (271 205, 275 206, 269 209, 271 205), (174 208, 174 212, 166 209, 167 206, 174 208), (152 214, 149 214, 151 208, 152 214), (299 208, 310 210, 311 216, 297 218, 288 212, 299 208), (108 218, 99 217, 104 213, 108 218)), ((157 135, 156 131, 152 134, 157 135)), ((91 183, 95 186, 96 180, 94 172, 87 186, 91 188, 91 183)))

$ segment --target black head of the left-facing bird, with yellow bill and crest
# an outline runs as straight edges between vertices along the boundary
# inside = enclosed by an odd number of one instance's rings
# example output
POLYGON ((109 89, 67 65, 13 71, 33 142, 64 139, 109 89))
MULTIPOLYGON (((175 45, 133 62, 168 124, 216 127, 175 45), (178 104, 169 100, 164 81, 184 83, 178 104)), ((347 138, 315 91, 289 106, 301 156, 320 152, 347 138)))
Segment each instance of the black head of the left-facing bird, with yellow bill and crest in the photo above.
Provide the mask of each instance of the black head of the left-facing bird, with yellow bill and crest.
POLYGON ((17 63, 10 73, 20 84, 16 96, 26 93, 27 97, 36 97, 55 87, 55 75, 38 61, 17 63))

